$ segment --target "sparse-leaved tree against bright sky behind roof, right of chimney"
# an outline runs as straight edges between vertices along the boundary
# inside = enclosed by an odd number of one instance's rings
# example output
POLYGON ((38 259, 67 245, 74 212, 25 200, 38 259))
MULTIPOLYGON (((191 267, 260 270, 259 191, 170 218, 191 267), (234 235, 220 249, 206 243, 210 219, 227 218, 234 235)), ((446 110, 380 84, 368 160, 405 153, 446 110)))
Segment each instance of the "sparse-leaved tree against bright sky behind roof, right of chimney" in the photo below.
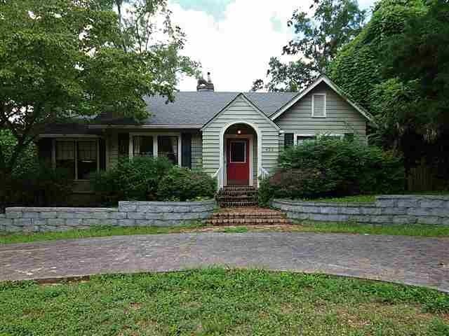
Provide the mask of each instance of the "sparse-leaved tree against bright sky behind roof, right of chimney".
MULTIPOLYGON (((295 62, 284 64, 277 57, 269 61, 264 85, 269 91, 298 91, 309 85, 328 64, 342 45, 360 33, 366 11, 356 0, 314 0, 314 14, 296 10, 288 21, 297 37, 283 47, 283 55, 297 55, 295 62)), ((253 90, 260 90, 262 80, 255 80, 253 90)))

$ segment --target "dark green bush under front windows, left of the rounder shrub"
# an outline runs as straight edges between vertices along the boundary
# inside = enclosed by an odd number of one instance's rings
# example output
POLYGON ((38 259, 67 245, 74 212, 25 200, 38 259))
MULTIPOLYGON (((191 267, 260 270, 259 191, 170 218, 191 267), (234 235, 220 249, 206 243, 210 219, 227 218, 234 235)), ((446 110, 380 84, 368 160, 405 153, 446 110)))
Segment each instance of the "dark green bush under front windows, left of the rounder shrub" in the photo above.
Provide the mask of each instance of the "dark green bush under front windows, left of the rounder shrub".
POLYGON ((125 158, 107 172, 95 174, 91 185, 105 203, 156 200, 159 182, 171 167, 167 158, 125 158))

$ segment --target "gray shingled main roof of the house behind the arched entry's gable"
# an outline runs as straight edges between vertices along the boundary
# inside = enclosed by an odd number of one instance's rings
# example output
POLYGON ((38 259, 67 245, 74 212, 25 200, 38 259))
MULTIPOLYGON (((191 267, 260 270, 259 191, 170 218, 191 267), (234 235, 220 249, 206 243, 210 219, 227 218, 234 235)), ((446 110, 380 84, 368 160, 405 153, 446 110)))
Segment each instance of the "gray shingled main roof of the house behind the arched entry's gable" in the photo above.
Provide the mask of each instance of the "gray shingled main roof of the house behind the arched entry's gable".
MULTIPOLYGON (((240 92, 175 92, 175 102, 166 103, 166 97, 156 95, 145 97, 147 111, 151 116, 143 121, 149 127, 179 125, 201 128, 232 102, 240 92)), ((248 92, 246 98, 253 103, 265 116, 271 116, 290 99, 295 92, 248 92)), ((136 125, 131 118, 113 118, 103 113, 95 118, 95 124, 100 125, 136 125)), ((140 124, 141 125, 141 124, 140 124)))

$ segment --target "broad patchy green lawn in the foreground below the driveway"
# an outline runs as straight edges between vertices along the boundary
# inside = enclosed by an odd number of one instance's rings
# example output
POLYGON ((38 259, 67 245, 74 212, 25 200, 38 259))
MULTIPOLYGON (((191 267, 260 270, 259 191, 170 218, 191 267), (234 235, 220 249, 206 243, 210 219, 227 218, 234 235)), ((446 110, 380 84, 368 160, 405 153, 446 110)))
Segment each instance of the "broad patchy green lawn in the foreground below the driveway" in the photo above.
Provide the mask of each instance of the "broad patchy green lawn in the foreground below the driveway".
POLYGON ((449 335, 449 296, 219 268, 0 283, 0 335, 449 335))

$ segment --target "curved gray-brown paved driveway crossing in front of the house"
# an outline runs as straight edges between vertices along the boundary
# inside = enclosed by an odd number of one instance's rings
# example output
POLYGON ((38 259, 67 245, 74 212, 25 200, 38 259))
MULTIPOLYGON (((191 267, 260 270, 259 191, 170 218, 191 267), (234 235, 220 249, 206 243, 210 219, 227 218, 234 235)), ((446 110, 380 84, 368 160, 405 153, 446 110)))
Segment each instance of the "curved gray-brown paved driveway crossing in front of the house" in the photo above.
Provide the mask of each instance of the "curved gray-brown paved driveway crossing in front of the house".
POLYGON ((171 271, 208 265, 320 272, 449 291, 449 239, 199 233, 0 246, 0 280, 171 271))

